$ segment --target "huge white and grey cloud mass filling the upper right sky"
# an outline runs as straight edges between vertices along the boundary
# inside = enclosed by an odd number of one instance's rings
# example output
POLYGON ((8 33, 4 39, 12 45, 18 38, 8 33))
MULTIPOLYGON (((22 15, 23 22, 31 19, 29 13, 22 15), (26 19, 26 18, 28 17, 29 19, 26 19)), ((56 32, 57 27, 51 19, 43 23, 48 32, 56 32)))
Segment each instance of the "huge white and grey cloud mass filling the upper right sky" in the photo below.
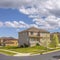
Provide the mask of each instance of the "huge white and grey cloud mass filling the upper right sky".
POLYGON ((29 8, 24 6, 20 12, 33 18, 33 22, 39 28, 59 29, 60 28, 60 0, 35 0, 29 8), (45 17, 45 18, 43 18, 45 17))

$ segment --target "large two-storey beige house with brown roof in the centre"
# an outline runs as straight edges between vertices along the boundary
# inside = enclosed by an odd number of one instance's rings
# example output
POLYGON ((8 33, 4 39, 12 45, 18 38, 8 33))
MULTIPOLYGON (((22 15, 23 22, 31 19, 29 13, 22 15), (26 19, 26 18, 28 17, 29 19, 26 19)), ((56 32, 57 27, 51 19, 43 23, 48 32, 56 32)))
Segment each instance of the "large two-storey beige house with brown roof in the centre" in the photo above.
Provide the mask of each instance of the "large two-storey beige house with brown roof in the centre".
POLYGON ((19 32, 18 34, 19 46, 24 46, 25 44, 29 46, 35 46, 37 43, 40 45, 46 45, 50 42, 50 33, 44 29, 31 27, 27 30, 19 32))

